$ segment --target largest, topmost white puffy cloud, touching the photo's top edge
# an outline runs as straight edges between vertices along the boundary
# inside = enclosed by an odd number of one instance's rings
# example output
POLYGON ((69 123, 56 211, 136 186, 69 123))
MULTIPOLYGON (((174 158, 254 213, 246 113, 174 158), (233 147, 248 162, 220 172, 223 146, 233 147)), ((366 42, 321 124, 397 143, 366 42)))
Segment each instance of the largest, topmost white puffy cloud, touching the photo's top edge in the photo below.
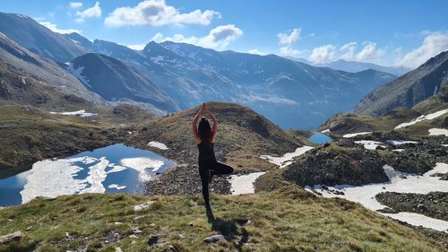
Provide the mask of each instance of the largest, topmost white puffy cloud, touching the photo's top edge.
POLYGON ((220 13, 211 10, 180 13, 174 6, 167 5, 165 0, 145 0, 134 7, 116 8, 108 15, 105 23, 110 26, 142 24, 153 26, 167 24, 208 25, 215 16, 220 18, 220 13))

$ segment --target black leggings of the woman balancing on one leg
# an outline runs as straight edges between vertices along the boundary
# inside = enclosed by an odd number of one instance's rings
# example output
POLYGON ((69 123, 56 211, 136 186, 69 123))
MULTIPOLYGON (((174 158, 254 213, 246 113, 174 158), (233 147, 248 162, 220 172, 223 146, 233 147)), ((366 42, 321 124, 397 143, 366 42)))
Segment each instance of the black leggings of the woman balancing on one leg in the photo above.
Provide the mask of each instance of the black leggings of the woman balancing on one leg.
POLYGON ((209 170, 210 175, 224 175, 233 172, 233 168, 227 164, 220 163, 218 161, 202 162, 199 161, 199 175, 201 175, 202 183, 202 196, 205 203, 205 207, 210 209, 210 199, 209 199, 209 170))

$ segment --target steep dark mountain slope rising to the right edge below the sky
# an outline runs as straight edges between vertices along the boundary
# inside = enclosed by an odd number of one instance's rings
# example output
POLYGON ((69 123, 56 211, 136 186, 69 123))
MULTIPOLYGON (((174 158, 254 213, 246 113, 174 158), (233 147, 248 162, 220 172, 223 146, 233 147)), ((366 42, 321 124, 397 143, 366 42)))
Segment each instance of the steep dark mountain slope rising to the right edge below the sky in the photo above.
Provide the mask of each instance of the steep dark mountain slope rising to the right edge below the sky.
POLYGON ((354 112, 381 116, 397 107, 412 108, 448 85, 448 51, 430 58, 416 70, 404 74, 369 93, 354 112))

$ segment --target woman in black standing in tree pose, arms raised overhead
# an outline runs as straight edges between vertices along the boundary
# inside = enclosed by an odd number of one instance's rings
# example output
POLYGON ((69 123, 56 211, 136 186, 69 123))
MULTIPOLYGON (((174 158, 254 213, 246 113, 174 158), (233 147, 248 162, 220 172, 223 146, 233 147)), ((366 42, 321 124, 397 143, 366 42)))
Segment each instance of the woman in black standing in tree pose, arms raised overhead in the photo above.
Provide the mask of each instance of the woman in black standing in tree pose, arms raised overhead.
POLYGON ((216 121, 216 117, 211 114, 211 111, 207 108, 205 103, 202 103, 201 110, 199 110, 193 120, 193 135, 199 148, 199 174, 201 175, 202 196, 207 213, 211 213, 209 199, 209 184, 211 182, 211 178, 213 175, 230 174, 233 172, 233 168, 216 161, 213 145, 215 143, 217 133, 218 122, 216 121), (199 117, 201 117, 204 112, 207 112, 211 117, 211 120, 213 121, 212 127, 205 117, 202 117, 199 122, 199 126, 197 125, 199 117))

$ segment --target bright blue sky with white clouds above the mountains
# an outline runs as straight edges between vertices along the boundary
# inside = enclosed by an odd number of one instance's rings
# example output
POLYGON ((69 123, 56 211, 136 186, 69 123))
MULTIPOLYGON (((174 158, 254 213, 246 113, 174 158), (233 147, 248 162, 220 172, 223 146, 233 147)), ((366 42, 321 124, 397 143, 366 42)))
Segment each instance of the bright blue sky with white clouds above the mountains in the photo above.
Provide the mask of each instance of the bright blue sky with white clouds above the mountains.
POLYGON ((416 67, 448 50, 448 1, 2 1, 53 30, 142 48, 151 39, 217 50, 416 67))

